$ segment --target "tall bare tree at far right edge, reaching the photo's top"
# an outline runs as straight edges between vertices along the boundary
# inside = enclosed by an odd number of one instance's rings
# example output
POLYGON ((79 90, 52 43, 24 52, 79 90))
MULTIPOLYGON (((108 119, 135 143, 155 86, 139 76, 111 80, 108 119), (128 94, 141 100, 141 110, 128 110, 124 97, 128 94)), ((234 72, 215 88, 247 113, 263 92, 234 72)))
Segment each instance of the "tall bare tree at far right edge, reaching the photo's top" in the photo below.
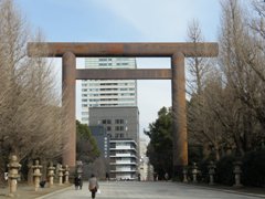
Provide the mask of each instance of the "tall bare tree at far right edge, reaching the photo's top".
POLYGON ((239 113, 237 122, 233 119, 236 125, 226 123, 226 127, 230 126, 237 151, 244 155, 264 139, 264 52, 257 45, 263 42, 250 29, 253 15, 244 14, 237 0, 223 1, 222 10, 220 66, 230 101, 237 104, 234 107, 239 113))

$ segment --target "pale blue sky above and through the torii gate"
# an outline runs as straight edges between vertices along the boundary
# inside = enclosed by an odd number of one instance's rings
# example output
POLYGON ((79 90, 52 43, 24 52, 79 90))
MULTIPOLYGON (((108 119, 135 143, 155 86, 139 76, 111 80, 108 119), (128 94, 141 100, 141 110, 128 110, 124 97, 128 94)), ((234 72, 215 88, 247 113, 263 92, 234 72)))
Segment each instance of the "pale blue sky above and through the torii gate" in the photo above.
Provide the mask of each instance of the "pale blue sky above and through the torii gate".
MULTIPOLYGON (((183 42, 197 19, 204 40, 218 41, 219 0, 14 0, 49 42, 183 42)), ((59 78, 61 61, 55 60, 59 78)), ((138 59, 138 67, 170 67, 169 59, 138 59)), ((84 60, 77 61, 78 67, 84 60)), ((60 80, 59 80, 60 82, 60 80)), ((61 83, 61 82, 60 82, 61 83)), ((77 82, 76 116, 81 92, 77 82)), ((170 81, 138 81, 140 133, 162 106, 171 106, 170 81)))

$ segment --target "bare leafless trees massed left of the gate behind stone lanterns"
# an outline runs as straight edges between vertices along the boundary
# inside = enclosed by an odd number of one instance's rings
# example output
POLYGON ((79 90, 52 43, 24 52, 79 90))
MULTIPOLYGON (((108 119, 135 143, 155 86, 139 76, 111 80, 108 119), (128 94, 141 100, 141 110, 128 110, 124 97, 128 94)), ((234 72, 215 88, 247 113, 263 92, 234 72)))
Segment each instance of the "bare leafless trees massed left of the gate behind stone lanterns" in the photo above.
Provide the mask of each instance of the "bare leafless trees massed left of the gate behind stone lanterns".
POLYGON ((30 40, 42 36, 32 33, 12 0, 0 1, 1 171, 10 154, 19 160, 53 159, 62 154, 62 114, 52 65, 45 59, 26 56, 30 40))

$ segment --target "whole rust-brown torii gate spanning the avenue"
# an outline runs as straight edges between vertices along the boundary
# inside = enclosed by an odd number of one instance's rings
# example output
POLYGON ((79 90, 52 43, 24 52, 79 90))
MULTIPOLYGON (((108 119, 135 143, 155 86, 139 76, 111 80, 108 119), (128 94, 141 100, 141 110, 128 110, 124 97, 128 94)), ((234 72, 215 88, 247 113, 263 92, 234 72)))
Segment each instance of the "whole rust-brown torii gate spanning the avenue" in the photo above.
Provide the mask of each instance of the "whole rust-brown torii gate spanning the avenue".
POLYGON ((173 117, 173 171, 179 176, 188 165, 186 75, 184 57, 216 56, 216 43, 40 43, 28 44, 28 53, 39 56, 62 57, 63 97, 62 105, 67 114, 70 128, 65 132, 66 149, 63 164, 74 167, 76 163, 75 129, 75 80, 171 80, 173 117), (42 53, 43 52, 43 53, 42 53), (76 70, 76 56, 130 56, 171 57, 171 69, 139 70, 76 70), (67 100, 67 101, 66 101, 67 100))

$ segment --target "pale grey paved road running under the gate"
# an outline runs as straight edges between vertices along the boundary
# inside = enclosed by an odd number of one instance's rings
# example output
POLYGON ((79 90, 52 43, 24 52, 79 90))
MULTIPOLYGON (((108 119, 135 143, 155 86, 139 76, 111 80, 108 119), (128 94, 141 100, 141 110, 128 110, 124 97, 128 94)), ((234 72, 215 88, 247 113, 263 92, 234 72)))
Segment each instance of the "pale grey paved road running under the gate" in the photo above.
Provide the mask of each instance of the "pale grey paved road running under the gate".
MULTIPOLYGON (((99 182, 100 195, 97 199, 257 199, 258 196, 245 196, 236 192, 200 188, 176 182, 110 181, 99 182)), ((264 196, 265 197, 265 196, 264 196)), ((67 188, 62 192, 43 197, 45 199, 85 199, 91 198, 87 182, 83 190, 67 188)))

